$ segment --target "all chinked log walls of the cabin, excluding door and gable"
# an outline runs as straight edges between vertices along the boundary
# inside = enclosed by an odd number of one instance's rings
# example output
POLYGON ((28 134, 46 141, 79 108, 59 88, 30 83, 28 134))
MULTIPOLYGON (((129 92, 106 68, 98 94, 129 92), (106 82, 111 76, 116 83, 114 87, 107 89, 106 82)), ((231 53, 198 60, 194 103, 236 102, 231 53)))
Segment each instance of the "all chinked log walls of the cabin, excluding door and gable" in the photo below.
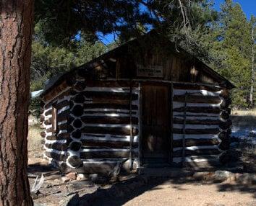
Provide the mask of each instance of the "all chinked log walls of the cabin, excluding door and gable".
MULTIPOLYGON (((183 154, 186 166, 218 164, 221 153, 229 149, 229 91, 204 84, 170 86, 174 166, 182 165, 183 154)), ((85 173, 107 173, 116 165, 128 170, 140 166, 139 83, 64 81, 43 100, 41 121, 45 131, 41 135, 51 164, 85 173)))

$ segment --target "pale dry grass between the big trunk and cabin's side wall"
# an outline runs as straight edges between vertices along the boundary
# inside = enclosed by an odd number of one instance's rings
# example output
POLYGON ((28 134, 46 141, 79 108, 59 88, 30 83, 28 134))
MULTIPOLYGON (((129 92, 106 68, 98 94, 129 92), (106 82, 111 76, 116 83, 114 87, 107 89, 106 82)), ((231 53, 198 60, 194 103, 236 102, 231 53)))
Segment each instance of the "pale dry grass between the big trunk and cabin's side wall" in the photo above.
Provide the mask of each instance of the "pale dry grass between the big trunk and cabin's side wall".
POLYGON ((29 158, 43 157, 43 138, 40 136, 41 131, 40 125, 30 125, 28 127, 27 151, 29 158))

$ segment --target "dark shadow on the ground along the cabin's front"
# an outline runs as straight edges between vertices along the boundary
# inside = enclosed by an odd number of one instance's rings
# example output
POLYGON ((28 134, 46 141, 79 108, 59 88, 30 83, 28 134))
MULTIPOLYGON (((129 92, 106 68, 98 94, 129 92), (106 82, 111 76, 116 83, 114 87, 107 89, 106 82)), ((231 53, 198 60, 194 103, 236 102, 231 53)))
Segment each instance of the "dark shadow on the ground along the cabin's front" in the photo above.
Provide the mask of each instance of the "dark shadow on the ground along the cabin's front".
POLYGON ((175 184, 173 186, 176 190, 186 190, 182 188, 183 184, 216 184, 218 192, 241 192, 252 194, 253 198, 256 198, 256 187, 255 185, 248 184, 221 184, 221 182, 205 182, 192 179, 191 177, 186 178, 145 178, 145 176, 135 176, 126 182, 119 182, 114 184, 108 189, 97 189, 91 194, 85 194, 82 197, 78 197, 78 194, 69 200, 67 205, 111 205, 118 206, 124 205, 129 200, 140 196, 144 192, 161 189, 157 186, 162 184, 175 184))

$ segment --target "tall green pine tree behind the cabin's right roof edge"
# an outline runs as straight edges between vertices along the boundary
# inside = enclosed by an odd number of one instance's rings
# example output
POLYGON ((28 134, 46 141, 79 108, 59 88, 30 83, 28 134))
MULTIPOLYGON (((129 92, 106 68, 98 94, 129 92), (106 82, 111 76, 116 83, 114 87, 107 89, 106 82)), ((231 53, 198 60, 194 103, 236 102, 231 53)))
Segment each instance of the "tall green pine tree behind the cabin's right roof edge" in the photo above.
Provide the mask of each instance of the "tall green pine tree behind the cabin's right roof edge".
POLYGON ((251 26, 241 6, 232 0, 221 5, 218 22, 213 24, 211 65, 234 83, 232 91, 235 107, 249 106, 251 85, 252 40, 251 26))

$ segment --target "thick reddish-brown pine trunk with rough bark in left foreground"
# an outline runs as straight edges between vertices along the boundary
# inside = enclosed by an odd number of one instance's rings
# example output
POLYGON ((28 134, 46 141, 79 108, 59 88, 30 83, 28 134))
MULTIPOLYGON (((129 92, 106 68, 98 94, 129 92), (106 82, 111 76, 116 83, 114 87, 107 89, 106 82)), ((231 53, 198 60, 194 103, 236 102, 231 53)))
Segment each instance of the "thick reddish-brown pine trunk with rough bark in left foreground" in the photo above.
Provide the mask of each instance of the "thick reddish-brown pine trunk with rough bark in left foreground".
POLYGON ((33 0, 0 1, 0 205, 33 205, 27 110, 33 0))

